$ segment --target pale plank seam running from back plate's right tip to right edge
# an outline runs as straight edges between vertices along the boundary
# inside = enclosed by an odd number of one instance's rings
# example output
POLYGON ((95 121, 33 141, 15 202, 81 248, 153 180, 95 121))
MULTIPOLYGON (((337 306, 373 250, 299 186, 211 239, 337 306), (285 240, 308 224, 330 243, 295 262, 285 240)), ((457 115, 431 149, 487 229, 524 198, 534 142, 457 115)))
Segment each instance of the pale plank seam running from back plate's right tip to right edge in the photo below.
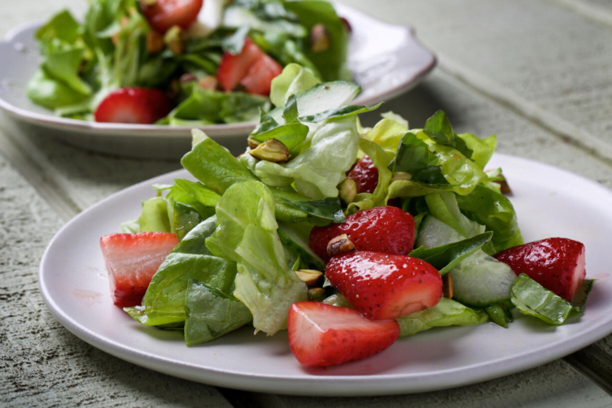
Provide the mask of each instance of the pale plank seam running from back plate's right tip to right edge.
POLYGON ((564 143, 580 148, 606 165, 612 166, 612 144, 602 142, 583 128, 545 110, 539 104, 525 99, 512 89, 500 85, 443 53, 438 53, 438 67, 444 74, 522 116, 535 126, 547 130, 564 143))

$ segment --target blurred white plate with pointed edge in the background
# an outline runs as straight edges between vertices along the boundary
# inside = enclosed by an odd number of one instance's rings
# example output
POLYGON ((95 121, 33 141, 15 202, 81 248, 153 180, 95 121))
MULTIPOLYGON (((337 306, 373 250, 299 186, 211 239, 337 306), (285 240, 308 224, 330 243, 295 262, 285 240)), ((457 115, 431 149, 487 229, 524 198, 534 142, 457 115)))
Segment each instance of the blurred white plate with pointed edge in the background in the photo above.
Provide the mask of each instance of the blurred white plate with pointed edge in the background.
MULTIPOLYGON (((435 56, 418 42, 411 28, 383 23, 343 4, 335 7, 353 27, 348 64, 362 87, 354 104, 376 104, 405 93, 435 66, 435 56)), ((105 153, 174 159, 189 150, 192 127, 85 122, 54 116, 33 104, 25 89, 40 64, 34 40, 38 26, 18 26, 0 41, 0 61, 10 61, 0 64, 0 108, 20 121, 53 130, 66 142, 105 153)), ((239 154, 246 146, 245 135, 254 126, 254 122, 245 122, 201 129, 239 154)))

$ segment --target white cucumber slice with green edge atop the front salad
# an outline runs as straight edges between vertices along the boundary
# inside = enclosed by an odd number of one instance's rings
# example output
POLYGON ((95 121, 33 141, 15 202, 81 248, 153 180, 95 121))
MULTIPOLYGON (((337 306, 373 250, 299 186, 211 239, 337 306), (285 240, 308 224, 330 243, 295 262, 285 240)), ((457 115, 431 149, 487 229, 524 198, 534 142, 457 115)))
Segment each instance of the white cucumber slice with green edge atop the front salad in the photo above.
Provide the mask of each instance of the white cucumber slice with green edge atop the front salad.
MULTIPOLYGON (((332 81, 319 83, 296 95, 297 113, 299 116, 310 116, 348 105, 360 91, 361 87, 354 82, 332 81)), ((283 108, 282 106, 276 107, 268 113, 278 124, 285 123, 283 108)))

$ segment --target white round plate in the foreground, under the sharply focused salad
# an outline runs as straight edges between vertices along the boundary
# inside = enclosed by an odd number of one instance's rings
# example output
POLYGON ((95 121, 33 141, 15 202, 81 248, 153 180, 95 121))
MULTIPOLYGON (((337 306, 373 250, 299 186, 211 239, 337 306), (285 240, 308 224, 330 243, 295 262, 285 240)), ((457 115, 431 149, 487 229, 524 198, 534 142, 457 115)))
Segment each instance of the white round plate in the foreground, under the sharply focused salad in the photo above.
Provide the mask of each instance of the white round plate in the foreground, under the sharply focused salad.
POLYGON ((612 192, 548 165, 496 155, 513 189, 525 240, 566 236, 586 245, 587 278, 598 280, 586 312, 551 327, 519 317, 504 329, 435 328, 400 339, 374 357, 333 368, 304 368, 289 351, 286 332, 267 338, 242 328, 186 347, 176 332, 144 327, 110 300, 99 248, 102 235, 140 213, 152 183, 187 176, 179 170, 111 195, 76 216, 47 247, 40 289, 57 319, 95 347, 137 365, 198 382, 268 393, 383 395, 457 387, 542 365, 612 332, 610 240, 612 192), (537 176, 534 176, 537 175, 537 176))

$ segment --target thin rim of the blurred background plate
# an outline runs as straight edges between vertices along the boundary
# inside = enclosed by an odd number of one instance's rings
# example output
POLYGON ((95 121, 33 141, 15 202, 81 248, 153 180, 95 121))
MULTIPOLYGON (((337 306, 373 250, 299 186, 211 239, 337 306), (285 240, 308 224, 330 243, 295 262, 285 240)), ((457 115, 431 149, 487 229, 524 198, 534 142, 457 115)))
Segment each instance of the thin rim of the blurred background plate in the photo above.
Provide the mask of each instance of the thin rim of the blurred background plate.
MULTIPOLYGON (((435 53, 433 53, 430 48, 424 45, 421 40, 416 36, 416 31, 412 26, 408 25, 395 25, 392 23, 387 23, 383 20, 378 20, 366 13, 355 9, 354 7, 348 6, 347 4, 341 4, 337 2, 332 2, 334 7, 337 10, 350 10, 351 13, 359 14, 368 20, 376 21, 377 23, 384 24, 386 26, 396 28, 396 29, 405 29, 408 33, 409 39, 411 42, 416 45, 420 50, 424 51, 429 60, 427 64, 424 64, 420 69, 412 75, 410 78, 406 78, 406 80, 401 81, 395 86, 392 86, 389 89, 386 89, 384 93, 379 93, 374 96, 368 98, 360 98, 359 96, 353 100, 354 104, 359 105, 370 105, 376 104, 378 102, 382 102, 383 100, 391 99, 397 97, 403 93, 408 92, 410 89, 414 88, 422 78, 424 78, 437 64, 437 57, 435 53)), ((35 20, 35 21, 26 21, 24 23, 20 23, 19 25, 9 29, 6 32, 4 37, 0 39, 1 43, 6 43, 6 45, 11 45, 15 42, 16 38, 23 34, 26 31, 34 30, 35 28, 42 25, 44 21, 35 20)), ((122 135, 130 135, 130 137, 143 137, 143 138, 162 138, 168 137, 169 135, 178 135, 185 136, 190 135, 190 130, 197 128, 201 129, 209 135, 216 136, 231 136, 239 133, 244 133, 252 130, 257 122, 240 122, 240 123, 231 123, 231 124, 211 124, 204 126, 163 126, 163 125, 154 125, 154 124, 113 124, 113 123, 97 123, 93 121, 80 121, 78 119, 72 118, 62 118, 60 116, 55 116, 51 111, 49 113, 39 113, 36 111, 27 110, 16 105, 13 105, 8 100, 0 97, 0 108, 2 110, 9 113, 9 115, 13 116, 13 118, 19 119, 26 123, 35 124, 39 126, 50 127, 51 129, 57 130, 68 130, 70 132, 86 132, 91 134, 103 135, 106 137, 116 135, 116 133, 121 132, 122 135)))

